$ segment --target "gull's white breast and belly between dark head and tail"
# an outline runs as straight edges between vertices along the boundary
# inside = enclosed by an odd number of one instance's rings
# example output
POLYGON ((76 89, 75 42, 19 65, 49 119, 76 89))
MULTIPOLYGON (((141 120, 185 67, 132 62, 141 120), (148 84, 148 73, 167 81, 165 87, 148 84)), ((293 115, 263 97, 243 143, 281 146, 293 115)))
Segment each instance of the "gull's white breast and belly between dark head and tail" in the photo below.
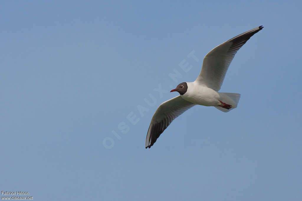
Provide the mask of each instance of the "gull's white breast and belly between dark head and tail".
POLYGON ((196 82, 187 82, 187 85, 187 92, 181 95, 186 101, 204 106, 217 106, 220 104, 217 91, 196 82))

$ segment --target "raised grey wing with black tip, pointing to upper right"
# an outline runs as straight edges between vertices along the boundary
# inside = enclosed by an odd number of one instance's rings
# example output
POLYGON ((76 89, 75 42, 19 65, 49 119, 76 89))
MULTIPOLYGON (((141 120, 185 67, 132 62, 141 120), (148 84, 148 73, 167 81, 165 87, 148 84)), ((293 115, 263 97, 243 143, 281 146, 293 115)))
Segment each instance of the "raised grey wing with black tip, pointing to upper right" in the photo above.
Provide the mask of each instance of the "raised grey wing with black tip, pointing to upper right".
POLYGON ((216 91, 220 90, 223 83, 226 71, 229 68, 237 51, 258 31, 262 30, 263 26, 251 29, 243 34, 240 34, 212 49, 204 57, 201 72, 196 79, 200 84, 203 84, 216 91))

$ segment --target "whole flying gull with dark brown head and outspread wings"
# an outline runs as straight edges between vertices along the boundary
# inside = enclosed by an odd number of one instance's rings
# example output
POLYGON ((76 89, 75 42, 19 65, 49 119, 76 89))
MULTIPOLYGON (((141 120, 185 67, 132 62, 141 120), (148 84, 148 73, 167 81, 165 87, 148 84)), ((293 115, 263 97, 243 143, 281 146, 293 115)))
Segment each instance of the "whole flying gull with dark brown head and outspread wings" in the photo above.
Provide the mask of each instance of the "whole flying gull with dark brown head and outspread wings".
POLYGON ((163 102, 154 113, 146 137, 150 148, 160 134, 176 119, 194 105, 214 106, 228 112, 237 107, 240 94, 218 92, 226 71, 237 51, 263 26, 251 29, 212 49, 204 57, 201 72, 194 82, 182 82, 170 92, 180 95, 163 102))

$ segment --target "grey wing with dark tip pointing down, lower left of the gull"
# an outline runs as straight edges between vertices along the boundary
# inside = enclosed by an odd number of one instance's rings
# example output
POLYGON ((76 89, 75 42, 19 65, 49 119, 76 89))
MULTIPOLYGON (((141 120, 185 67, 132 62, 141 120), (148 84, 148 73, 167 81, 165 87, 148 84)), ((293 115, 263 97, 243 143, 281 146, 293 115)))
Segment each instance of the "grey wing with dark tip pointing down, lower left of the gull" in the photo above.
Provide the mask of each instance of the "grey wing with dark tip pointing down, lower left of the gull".
POLYGON ((150 148, 156 142, 174 119, 194 105, 180 95, 163 102, 152 117, 146 137, 146 148, 150 148))

